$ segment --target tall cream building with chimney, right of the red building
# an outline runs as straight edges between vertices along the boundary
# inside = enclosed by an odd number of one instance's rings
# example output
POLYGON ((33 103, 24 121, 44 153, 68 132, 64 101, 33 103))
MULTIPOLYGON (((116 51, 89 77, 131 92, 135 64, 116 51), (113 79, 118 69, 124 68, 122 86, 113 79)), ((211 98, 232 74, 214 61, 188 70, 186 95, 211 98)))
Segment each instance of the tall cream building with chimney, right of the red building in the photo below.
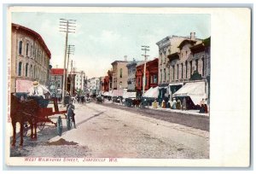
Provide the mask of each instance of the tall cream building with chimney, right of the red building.
MULTIPOLYGON (((166 37, 156 43, 159 47, 159 84, 168 85, 172 81, 172 67, 170 67, 170 62, 168 61, 168 55, 179 53, 180 49, 178 46, 183 42, 183 40, 191 40, 196 44, 201 43, 201 39, 195 38, 195 32, 191 32, 190 37, 166 37)), ((189 55, 188 52, 184 52, 182 54, 183 56, 189 55)))

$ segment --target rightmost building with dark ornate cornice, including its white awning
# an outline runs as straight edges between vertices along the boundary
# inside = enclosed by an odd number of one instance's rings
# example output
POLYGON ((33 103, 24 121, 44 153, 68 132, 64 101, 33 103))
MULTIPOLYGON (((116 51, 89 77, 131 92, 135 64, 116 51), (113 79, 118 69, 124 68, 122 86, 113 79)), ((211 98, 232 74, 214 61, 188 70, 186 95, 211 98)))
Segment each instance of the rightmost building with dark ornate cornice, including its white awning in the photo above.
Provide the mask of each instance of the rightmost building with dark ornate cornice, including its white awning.
POLYGON ((171 67, 169 85, 184 85, 180 89, 182 93, 172 88, 172 96, 190 96, 195 105, 199 104, 202 98, 210 99, 211 38, 206 38, 199 44, 195 40, 185 39, 178 48, 176 53, 168 55, 171 67), (196 92, 193 91, 194 88, 196 92), (196 95, 193 95, 193 92, 196 95))

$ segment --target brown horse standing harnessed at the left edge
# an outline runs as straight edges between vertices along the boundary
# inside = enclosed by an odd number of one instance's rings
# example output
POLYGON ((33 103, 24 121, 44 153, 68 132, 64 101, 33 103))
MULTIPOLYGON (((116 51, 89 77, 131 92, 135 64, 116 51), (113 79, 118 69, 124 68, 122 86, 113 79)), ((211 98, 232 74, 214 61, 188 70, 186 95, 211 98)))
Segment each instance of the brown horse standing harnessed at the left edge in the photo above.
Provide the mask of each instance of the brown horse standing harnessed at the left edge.
POLYGON ((10 102, 10 117, 12 119, 13 126, 13 143, 15 146, 16 142, 16 123, 20 123, 20 146, 23 146, 23 125, 28 122, 31 125, 31 138, 37 139, 37 122, 38 122, 38 112, 40 107, 38 103, 34 100, 29 100, 26 102, 20 102, 19 99, 11 93, 10 102), (35 133, 34 133, 35 131, 35 133))

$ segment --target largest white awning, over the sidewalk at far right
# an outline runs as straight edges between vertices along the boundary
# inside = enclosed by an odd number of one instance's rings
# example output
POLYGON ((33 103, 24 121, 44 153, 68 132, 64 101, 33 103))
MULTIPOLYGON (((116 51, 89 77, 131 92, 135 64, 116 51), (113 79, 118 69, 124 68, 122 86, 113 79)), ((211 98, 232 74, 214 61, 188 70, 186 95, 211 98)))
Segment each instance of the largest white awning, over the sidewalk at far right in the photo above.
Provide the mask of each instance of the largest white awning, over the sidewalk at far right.
POLYGON ((202 98, 206 98, 205 82, 194 82, 184 84, 183 87, 175 92, 172 97, 190 96, 195 105, 200 104, 202 98))

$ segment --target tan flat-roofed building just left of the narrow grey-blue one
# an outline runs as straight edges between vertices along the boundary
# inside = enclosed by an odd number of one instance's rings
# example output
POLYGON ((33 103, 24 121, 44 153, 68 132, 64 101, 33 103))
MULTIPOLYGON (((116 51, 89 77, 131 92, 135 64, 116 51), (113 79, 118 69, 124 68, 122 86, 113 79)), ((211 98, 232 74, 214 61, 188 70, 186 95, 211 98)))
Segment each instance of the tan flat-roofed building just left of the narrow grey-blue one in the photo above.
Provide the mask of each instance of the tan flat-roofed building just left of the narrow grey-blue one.
POLYGON ((128 61, 113 61, 111 64, 113 67, 112 70, 112 81, 113 81, 113 89, 111 90, 122 90, 127 89, 128 84, 128 69, 126 65, 128 61))

